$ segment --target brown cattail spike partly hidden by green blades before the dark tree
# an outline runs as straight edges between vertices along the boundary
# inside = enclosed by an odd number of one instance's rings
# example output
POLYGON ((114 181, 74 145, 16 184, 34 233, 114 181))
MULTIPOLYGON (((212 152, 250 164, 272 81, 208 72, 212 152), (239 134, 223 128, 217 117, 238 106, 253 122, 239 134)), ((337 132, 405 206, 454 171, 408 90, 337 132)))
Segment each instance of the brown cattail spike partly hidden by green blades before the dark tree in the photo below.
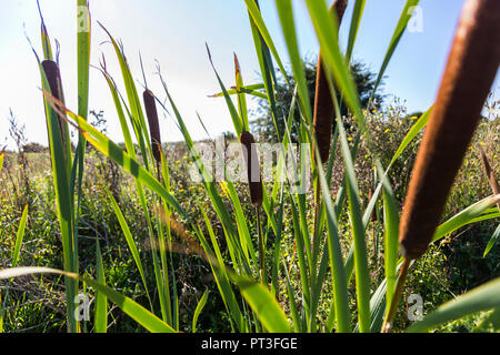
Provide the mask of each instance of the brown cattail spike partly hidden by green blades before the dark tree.
MULTIPOLYGON (((330 8, 330 13, 337 13, 339 27, 342 22, 343 13, 346 12, 347 3, 347 0, 336 0, 330 8)), ((328 85, 328 78, 320 52, 316 78, 313 125, 321 162, 323 163, 328 161, 330 155, 331 133, 333 128, 334 108, 331 98, 330 87, 328 85)))

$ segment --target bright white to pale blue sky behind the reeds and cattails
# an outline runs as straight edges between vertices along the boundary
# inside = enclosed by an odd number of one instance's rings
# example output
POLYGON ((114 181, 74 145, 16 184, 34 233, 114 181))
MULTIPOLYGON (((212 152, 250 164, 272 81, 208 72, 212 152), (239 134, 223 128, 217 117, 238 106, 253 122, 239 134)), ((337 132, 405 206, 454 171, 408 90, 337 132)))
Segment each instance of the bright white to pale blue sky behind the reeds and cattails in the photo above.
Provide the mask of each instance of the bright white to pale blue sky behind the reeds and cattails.
MULTIPOLYGON (((323 0, 319 0, 323 1, 323 0)), ((40 0, 49 34, 61 45, 60 63, 64 95, 70 109, 77 110, 77 10, 76 0, 40 0)), ((158 60, 173 100, 194 140, 207 138, 196 111, 210 135, 232 131, 222 99, 207 95, 219 91, 207 58, 204 43, 227 87, 234 84, 233 52, 238 54, 247 84, 258 83, 259 65, 243 0, 90 0, 92 16, 91 63, 99 64, 102 53, 109 72, 122 88, 118 61, 97 21, 124 44, 126 55, 137 79, 142 82, 139 64, 141 52, 148 85, 160 98, 164 92, 154 74, 158 60)), ((332 1, 329 0, 329 4, 332 1)), ((423 31, 407 32, 387 70, 384 93, 406 101, 408 110, 428 109, 436 95, 460 10, 464 0, 421 0, 423 31)), ((0 0, 0 148, 8 140, 9 109, 26 124, 28 141, 47 144, 44 111, 39 90, 40 74, 24 37, 41 53, 40 18, 36 0, 0 0), (26 28, 26 29, 24 29, 26 28)), ((341 44, 347 42, 349 20, 354 1, 350 1, 341 28, 341 44)), ((261 10, 283 61, 288 62, 274 0, 260 0, 261 10)), ((300 49, 303 57, 316 57, 318 41, 303 0, 293 1, 300 49)), ((361 22, 353 58, 378 72, 404 0, 369 0, 361 22)), ((484 53, 487 54, 487 53, 484 53)), ((493 84, 497 91, 499 75, 493 84)), ((121 89, 122 90, 122 89, 121 89)), ((393 97, 389 97, 390 104, 393 97)), ((90 72, 90 110, 104 111, 108 133, 122 141, 112 98, 102 75, 90 72)), ((250 108, 256 108, 251 100, 250 108)), ((252 119, 252 118, 251 118, 252 119)), ((171 118, 161 120, 163 141, 181 140, 171 118)))

